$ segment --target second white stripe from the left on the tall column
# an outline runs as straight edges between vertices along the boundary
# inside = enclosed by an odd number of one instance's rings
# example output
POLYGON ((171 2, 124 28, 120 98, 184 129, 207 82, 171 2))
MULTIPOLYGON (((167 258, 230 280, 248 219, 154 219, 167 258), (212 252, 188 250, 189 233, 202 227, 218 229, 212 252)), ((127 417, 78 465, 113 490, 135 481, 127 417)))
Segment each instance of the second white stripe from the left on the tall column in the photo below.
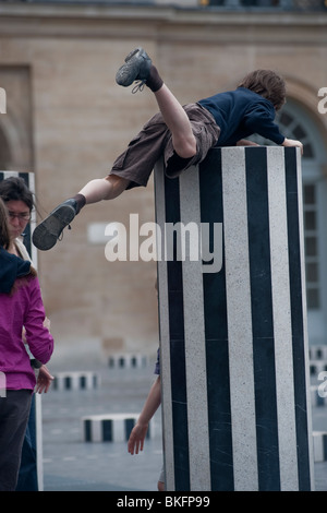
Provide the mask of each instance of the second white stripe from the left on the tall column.
MULTIPOLYGON (((197 167, 192 167, 180 176, 180 206, 181 223, 185 227, 189 223, 197 224, 198 239, 195 242, 199 250, 201 206, 197 167)), ((199 251, 197 255, 197 260, 192 261, 186 253, 182 265, 190 485, 192 491, 208 491, 210 490, 210 454, 203 274, 199 251)))

